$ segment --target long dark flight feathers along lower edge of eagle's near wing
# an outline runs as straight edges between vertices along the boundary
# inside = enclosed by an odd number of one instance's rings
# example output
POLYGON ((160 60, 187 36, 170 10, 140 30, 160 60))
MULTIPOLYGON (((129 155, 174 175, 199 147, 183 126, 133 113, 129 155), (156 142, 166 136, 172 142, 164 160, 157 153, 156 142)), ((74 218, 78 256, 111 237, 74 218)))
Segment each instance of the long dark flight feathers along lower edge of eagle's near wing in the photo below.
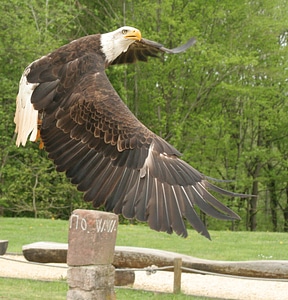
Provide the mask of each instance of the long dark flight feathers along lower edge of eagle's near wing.
MULTIPOLYGON (((67 118, 64 113, 58 116, 67 118)), ((68 119, 63 122, 58 123, 62 126, 68 119)), ((97 147, 89 148, 81 139, 73 138, 74 133, 79 138, 79 128, 85 127, 77 124, 73 127, 71 123, 69 126, 68 133, 60 128, 43 130, 44 143, 57 169, 66 171, 71 182, 85 192, 84 199, 92 201, 95 207, 105 203, 107 210, 147 221, 155 230, 175 231, 184 237, 186 218, 198 232, 210 238, 195 206, 218 219, 238 218, 206 190, 211 185, 201 173, 175 154, 167 154, 173 151, 167 142, 155 137, 149 150, 142 147, 118 152, 116 145, 98 139, 97 147), (57 147, 54 138, 60 141, 57 147), (139 157, 144 161, 141 168, 139 157)))

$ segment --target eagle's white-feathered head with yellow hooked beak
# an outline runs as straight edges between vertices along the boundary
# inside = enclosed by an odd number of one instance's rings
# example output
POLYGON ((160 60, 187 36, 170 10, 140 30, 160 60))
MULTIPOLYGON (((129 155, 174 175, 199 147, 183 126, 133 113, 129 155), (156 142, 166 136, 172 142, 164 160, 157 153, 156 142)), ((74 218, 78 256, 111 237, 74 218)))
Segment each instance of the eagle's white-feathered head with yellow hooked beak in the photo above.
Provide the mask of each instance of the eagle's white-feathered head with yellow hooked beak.
POLYGON ((141 40, 140 30, 123 26, 108 33, 101 34, 101 47, 107 62, 115 60, 122 52, 126 52, 131 44, 141 40))

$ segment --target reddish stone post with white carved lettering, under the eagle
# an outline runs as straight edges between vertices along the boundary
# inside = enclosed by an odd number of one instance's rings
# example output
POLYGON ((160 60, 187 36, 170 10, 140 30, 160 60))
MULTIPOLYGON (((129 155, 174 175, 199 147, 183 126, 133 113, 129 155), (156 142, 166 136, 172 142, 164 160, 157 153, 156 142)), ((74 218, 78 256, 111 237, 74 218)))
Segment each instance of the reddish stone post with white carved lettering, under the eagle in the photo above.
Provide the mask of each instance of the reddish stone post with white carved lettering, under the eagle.
POLYGON ((96 210, 74 210, 67 253, 67 300, 116 299, 112 266, 118 216, 96 210))

